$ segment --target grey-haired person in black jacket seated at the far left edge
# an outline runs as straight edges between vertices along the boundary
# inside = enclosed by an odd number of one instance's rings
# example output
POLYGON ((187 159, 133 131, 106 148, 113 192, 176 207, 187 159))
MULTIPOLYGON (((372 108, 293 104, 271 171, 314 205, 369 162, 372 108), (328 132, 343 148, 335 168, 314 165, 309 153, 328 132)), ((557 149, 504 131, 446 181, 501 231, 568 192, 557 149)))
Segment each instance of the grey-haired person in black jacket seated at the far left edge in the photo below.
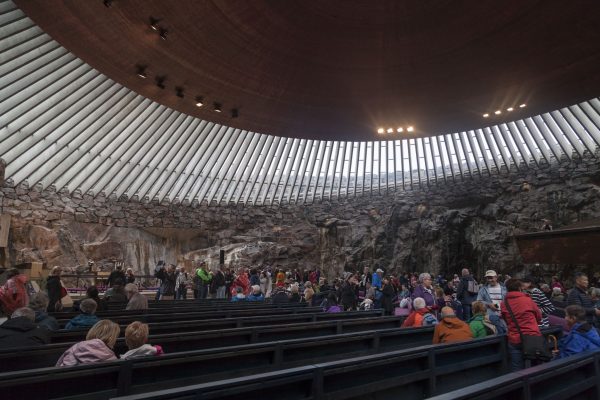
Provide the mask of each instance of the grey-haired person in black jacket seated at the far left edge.
POLYGON ((0 349, 50 343, 50 331, 39 328, 34 321, 35 311, 29 307, 17 308, 10 319, 0 325, 0 349))

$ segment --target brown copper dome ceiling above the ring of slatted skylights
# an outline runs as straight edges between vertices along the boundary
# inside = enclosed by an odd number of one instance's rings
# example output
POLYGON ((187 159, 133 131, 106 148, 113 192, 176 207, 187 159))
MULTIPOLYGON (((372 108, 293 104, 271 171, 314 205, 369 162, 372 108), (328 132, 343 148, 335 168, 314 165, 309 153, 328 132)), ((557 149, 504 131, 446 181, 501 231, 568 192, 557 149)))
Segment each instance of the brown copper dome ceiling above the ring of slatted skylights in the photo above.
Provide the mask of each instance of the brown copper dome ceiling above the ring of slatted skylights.
POLYGON ((408 125, 428 136, 600 93, 598 1, 16 3, 76 56, 136 92, 277 136, 390 139, 376 129, 408 125), (151 18, 167 40, 151 29, 151 18), (147 66, 147 79, 136 76, 138 65, 147 66), (156 76, 166 77, 164 89, 156 76))

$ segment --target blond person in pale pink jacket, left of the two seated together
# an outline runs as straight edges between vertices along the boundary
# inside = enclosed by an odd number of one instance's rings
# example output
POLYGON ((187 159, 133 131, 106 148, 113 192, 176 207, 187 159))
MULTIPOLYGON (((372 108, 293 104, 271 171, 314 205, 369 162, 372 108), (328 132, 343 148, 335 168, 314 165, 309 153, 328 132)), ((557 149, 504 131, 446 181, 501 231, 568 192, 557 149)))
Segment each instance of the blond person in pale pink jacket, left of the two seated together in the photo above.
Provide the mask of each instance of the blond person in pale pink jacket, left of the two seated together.
POLYGON ((116 360, 112 351, 121 328, 112 321, 103 319, 92 326, 85 341, 71 346, 58 359, 57 367, 70 367, 79 364, 116 360))

